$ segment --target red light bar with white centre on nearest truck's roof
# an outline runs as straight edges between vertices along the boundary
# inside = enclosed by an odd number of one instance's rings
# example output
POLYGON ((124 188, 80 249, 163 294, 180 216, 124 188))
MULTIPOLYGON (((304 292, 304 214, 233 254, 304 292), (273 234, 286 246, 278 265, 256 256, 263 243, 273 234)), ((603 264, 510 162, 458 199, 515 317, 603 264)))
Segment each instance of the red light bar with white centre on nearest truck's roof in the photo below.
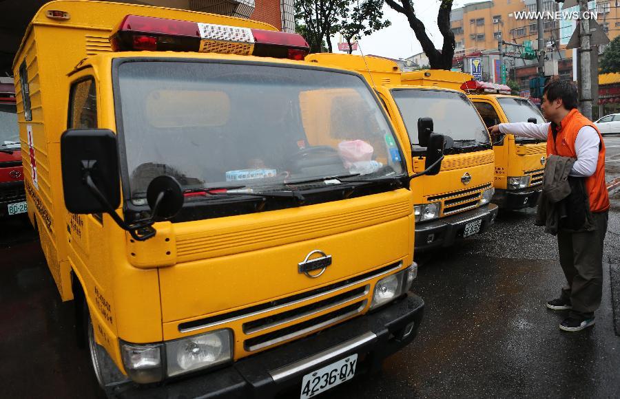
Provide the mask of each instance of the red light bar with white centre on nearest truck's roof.
POLYGON ((214 52, 302 60, 310 52, 296 33, 127 15, 110 41, 114 50, 214 52))

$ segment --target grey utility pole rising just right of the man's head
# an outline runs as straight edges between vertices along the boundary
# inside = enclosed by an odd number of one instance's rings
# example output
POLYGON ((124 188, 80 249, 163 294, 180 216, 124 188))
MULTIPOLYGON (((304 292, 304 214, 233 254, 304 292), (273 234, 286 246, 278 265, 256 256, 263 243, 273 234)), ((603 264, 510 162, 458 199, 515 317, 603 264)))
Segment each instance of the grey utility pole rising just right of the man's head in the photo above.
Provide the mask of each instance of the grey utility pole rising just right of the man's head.
POLYGON ((588 12, 588 0, 579 0, 579 87, 581 98, 579 99, 579 111, 583 116, 592 120, 592 71, 590 70, 590 19, 584 17, 588 12))

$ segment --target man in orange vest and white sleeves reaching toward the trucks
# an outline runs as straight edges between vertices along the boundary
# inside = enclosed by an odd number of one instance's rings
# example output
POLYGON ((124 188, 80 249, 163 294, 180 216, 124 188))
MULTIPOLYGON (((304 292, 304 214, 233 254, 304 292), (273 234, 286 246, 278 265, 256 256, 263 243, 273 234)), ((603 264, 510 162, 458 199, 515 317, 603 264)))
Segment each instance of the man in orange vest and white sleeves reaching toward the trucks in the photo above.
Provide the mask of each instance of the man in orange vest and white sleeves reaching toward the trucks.
MULTIPOLYGON (((564 331, 581 331, 595 323, 603 287, 603 241, 607 231, 609 197, 605 181, 605 144, 599 129, 577 110, 577 89, 570 82, 546 85, 541 111, 548 123, 500 123, 490 133, 547 140, 547 154, 574 158, 571 177, 585 179, 594 230, 559 230, 559 261, 567 284, 558 299, 546 303, 552 310, 570 310, 559 325, 564 331)), ((570 213, 571 210, 567 209, 570 213)))

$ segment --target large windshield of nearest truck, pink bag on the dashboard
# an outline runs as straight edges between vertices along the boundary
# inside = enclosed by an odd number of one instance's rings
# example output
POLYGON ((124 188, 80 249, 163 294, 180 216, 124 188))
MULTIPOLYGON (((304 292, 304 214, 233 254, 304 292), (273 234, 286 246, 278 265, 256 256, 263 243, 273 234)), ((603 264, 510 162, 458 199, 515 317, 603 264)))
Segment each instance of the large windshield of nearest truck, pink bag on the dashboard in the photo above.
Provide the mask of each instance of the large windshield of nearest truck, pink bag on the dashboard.
POLYGON ((333 176, 377 180, 406 173, 389 122, 359 76, 182 63, 118 66, 132 200, 164 174, 186 191, 262 193, 333 176))

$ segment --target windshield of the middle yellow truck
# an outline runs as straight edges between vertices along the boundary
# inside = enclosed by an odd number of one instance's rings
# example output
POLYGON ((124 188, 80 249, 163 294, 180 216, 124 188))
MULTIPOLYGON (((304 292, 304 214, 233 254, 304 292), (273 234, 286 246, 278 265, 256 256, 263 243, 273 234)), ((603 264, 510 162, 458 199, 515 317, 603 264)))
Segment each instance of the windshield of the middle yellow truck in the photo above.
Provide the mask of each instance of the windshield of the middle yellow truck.
POLYGON ((409 140, 417 142, 417 120, 433 118, 433 131, 450 136, 455 147, 489 144, 486 127, 471 101, 455 91, 393 89, 392 96, 407 129, 409 140))

